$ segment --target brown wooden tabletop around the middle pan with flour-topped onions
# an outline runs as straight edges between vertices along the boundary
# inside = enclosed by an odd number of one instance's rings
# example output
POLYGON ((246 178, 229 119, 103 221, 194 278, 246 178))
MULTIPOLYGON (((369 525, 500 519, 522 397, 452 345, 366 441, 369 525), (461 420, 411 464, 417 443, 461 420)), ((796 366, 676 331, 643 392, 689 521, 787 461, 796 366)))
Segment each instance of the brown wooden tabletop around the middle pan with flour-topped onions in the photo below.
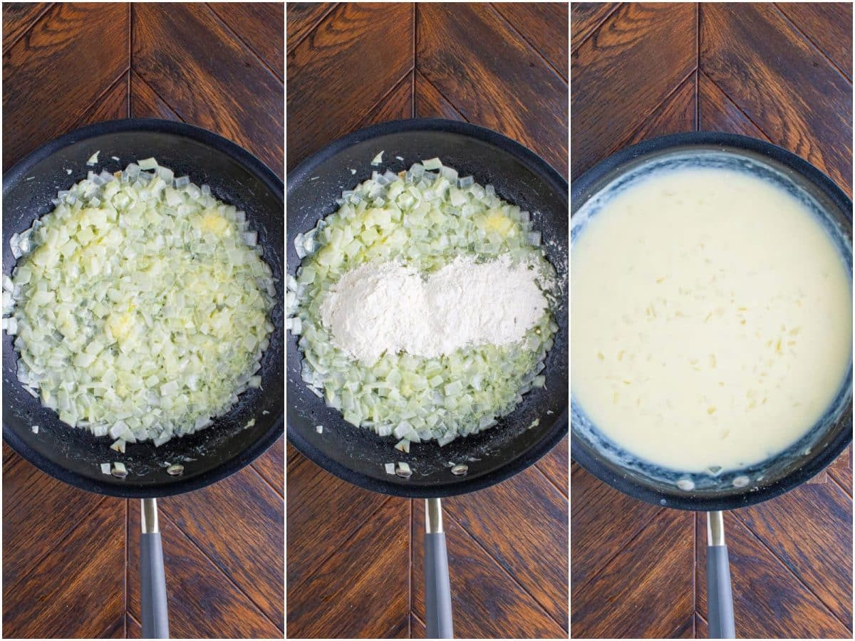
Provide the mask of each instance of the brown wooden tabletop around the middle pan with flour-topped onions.
MULTIPOLYGON (((564 4, 289 4, 287 165, 375 122, 491 127, 567 175, 564 4)), ((457 637, 566 638, 567 442, 445 500, 457 637)), ((423 501, 287 459, 292 638, 424 637, 423 501)))

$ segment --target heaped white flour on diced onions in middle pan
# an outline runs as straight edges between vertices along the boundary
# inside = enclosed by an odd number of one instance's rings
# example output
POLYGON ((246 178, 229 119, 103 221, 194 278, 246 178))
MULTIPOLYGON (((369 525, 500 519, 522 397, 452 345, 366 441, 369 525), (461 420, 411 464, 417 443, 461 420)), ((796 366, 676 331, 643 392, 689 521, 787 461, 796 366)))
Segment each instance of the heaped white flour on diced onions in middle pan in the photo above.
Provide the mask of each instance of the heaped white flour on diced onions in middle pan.
POLYGON ((508 344, 534 326, 547 303, 526 264, 508 256, 459 257, 428 279, 398 262, 345 273, 321 303, 333 344, 367 365, 383 352, 450 354, 469 344, 508 344))

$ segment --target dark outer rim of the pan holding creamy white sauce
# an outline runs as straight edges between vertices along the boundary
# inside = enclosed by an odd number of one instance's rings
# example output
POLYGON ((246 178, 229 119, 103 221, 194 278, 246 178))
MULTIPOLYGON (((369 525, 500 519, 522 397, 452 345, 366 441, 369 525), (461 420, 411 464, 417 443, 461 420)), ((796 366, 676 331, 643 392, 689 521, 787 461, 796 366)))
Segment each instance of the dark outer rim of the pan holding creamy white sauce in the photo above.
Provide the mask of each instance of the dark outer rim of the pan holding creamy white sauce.
MULTIPOLYGON (((769 143, 759 138, 751 138, 735 133, 727 132, 681 132, 672 133, 656 138, 649 138, 638 144, 634 144, 607 156, 602 161, 589 168, 579 178, 573 181, 571 187, 571 217, 585 204, 582 197, 598 181, 610 176, 616 178, 616 172, 628 162, 638 161, 646 156, 666 152, 668 150, 687 149, 696 146, 703 149, 716 147, 718 150, 738 153, 740 150, 749 151, 759 156, 780 163, 791 169, 794 173, 806 179, 812 185, 831 200, 841 211, 849 212, 852 216, 852 200, 846 193, 834 183, 828 174, 814 166, 804 158, 793 154, 776 144, 769 143)), ((606 485, 610 485, 618 491, 630 497, 638 498, 646 503, 652 503, 658 507, 667 506, 675 509, 686 509, 693 511, 712 511, 724 509, 744 508, 757 503, 762 503, 771 498, 780 496, 802 485, 808 479, 820 473, 824 468, 834 461, 846 447, 852 443, 852 366, 846 374, 850 381, 849 410, 844 411, 838 421, 842 423, 843 429, 831 440, 826 447, 817 452, 816 456, 808 459, 804 466, 797 468, 786 476, 775 481, 772 485, 766 485, 758 490, 752 490, 747 485, 744 490, 734 490, 722 497, 693 497, 691 492, 683 492, 675 488, 672 493, 660 492, 646 485, 640 485, 627 476, 613 470, 609 465, 601 462, 597 456, 590 451, 591 448, 581 439, 575 430, 570 430, 570 455, 582 468, 592 473, 606 485), (848 427, 847 427, 848 425, 848 427)), ((844 380, 844 382, 846 379, 844 380)), ((841 384, 842 385, 842 384, 841 384)), ((841 386, 842 391, 842 386, 841 386)), ((571 403, 572 391, 570 394, 571 403)))

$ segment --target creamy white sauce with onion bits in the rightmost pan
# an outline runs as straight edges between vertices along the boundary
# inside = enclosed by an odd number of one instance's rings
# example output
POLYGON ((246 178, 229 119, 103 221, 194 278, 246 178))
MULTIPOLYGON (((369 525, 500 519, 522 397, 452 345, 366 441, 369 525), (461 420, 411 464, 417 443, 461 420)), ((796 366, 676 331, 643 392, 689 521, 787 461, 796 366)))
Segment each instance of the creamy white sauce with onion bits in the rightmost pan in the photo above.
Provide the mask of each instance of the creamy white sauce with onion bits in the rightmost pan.
POLYGON ((675 169, 616 195, 571 252, 572 389, 598 429, 687 472, 760 462, 832 403, 852 282, 796 198, 675 169))

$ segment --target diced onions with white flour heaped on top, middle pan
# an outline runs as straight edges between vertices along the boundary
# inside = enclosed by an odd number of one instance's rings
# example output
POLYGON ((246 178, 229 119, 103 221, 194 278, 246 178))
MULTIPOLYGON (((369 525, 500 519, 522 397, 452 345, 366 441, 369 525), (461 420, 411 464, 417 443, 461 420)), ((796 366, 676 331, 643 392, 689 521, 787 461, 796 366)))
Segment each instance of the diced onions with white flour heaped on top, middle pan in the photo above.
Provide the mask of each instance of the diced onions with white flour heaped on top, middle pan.
POLYGON ((374 172, 294 247, 286 327, 305 383, 398 450, 495 426, 545 386, 556 272, 492 185, 436 158, 374 172))

